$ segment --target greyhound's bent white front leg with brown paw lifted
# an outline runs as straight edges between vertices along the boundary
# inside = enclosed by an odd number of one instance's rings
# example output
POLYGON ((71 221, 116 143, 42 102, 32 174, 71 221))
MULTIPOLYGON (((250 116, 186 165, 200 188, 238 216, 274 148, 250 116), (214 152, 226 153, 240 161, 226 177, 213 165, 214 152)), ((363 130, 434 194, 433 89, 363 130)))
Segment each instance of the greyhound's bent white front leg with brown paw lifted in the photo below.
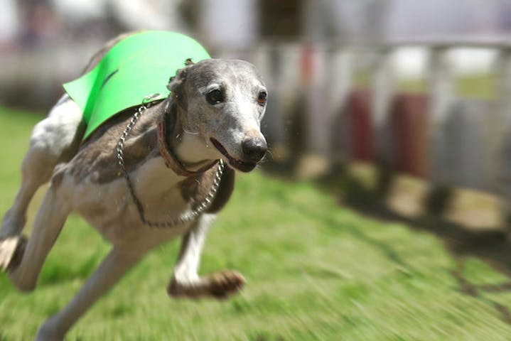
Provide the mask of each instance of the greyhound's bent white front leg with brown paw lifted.
POLYGON ((224 270, 208 276, 198 276, 200 254, 203 249, 206 233, 215 215, 202 215, 183 237, 179 259, 168 294, 173 297, 199 298, 213 296, 225 298, 242 288, 244 278, 232 270, 224 270))

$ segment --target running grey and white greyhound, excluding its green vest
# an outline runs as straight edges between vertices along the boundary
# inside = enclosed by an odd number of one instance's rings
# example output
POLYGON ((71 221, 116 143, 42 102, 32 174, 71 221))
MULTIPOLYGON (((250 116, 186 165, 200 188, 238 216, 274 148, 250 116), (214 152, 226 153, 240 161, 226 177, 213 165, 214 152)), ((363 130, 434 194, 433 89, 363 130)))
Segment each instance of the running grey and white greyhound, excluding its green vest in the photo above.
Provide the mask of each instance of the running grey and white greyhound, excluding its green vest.
MULTIPOLYGON (((108 43, 85 71, 123 38, 108 43)), ((72 301, 41 325, 36 340, 63 340, 147 251, 178 236, 182 244, 170 296, 223 298, 242 287, 244 278, 236 271, 199 276, 198 264, 235 171, 252 171, 267 151, 260 131, 267 89, 255 67, 242 60, 184 62, 168 83, 168 97, 120 112, 84 142, 82 110, 68 95, 33 129, 21 188, 1 227, 0 266, 16 288, 33 291, 72 211, 112 243, 72 301), (28 202, 48 181, 26 239, 28 202)))

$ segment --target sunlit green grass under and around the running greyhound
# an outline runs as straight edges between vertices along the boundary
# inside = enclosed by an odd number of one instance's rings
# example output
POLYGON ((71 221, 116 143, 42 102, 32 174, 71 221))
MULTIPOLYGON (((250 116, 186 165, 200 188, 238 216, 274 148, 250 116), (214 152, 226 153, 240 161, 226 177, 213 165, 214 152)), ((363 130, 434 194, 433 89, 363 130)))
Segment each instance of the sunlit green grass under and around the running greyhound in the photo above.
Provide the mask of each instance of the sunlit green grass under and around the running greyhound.
MULTIPOLYGON (((16 193, 38 119, 0 113, 1 212, 16 193)), ((67 340, 511 340, 507 276, 452 254, 434 234, 364 217, 337 200, 312 183, 240 176, 200 269, 241 271, 247 285, 239 296, 168 298, 178 248, 171 242, 148 254, 67 340)), ((0 340, 31 340, 108 249, 72 215, 36 291, 17 293, 0 275, 0 340)))

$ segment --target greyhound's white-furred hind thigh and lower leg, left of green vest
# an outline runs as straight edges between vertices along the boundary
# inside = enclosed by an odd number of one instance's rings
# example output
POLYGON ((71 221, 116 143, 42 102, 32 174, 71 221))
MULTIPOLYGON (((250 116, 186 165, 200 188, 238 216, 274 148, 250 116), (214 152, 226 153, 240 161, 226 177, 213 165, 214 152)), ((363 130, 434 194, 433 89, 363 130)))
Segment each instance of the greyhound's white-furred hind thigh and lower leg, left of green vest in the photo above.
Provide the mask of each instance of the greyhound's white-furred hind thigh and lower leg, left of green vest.
POLYGON ((1 225, 0 239, 21 234, 26 210, 36 190, 50 180, 53 168, 68 161, 80 146, 85 131, 82 111, 64 95, 48 117, 36 124, 21 165, 21 187, 1 225))

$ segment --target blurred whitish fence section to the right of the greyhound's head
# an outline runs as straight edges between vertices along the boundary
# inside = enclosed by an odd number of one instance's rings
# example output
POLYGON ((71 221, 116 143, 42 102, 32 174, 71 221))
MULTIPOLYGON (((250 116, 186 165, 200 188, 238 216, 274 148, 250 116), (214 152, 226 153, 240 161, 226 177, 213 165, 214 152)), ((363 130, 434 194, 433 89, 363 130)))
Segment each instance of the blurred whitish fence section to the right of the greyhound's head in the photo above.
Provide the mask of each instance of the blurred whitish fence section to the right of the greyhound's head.
MULTIPOLYGON (((402 171, 399 158, 417 158, 412 163, 424 169, 416 175, 431 183, 511 198, 511 40, 423 40, 367 47, 271 43, 254 48, 252 53, 225 55, 252 60, 267 80, 270 102, 274 102, 267 114, 274 145, 289 147, 290 136, 296 132, 289 131, 288 122, 303 111, 303 153, 322 156, 330 163, 339 159, 349 162, 356 157, 353 144, 369 143, 372 160, 397 171, 402 171), (414 101, 407 98, 406 90, 399 89, 392 64, 396 50, 407 46, 429 51, 423 113, 413 112, 414 101), (456 65, 449 53, 459 48, 497 52, 489 76, 496 85, 491 90, 493 98, 470 99, 456 94, 456 65), (367 78, 360 76, 362 69, 367 71, 367 78), (349 114, 350 96, 360 84, 368 94, 369 142, 338 136, 353 135, 357 114, 349 114), (404 101, 402 107, 398 99, 404 101), (406 155, 397 155, 407 148, 406 155)), ((356 124, 360 128, 360 119, 356 124)))

